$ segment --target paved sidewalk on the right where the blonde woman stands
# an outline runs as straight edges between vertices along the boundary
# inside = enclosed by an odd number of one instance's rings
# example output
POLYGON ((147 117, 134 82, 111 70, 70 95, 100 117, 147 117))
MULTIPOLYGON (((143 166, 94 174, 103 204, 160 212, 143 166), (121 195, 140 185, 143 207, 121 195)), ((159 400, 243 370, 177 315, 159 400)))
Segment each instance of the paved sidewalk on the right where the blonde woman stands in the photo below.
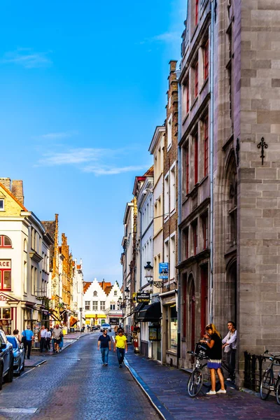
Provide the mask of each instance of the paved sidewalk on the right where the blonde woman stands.
POLYGON ((228 384, 226 395, 206 395, 208 389, 202 386, 200 395, 190 398, 186 390, 188 373, 134 354, 130 346, 125 364, 163 419, 280 419, 280 407, 275 398, 262 401, 258 396, 237 391, 228 384))

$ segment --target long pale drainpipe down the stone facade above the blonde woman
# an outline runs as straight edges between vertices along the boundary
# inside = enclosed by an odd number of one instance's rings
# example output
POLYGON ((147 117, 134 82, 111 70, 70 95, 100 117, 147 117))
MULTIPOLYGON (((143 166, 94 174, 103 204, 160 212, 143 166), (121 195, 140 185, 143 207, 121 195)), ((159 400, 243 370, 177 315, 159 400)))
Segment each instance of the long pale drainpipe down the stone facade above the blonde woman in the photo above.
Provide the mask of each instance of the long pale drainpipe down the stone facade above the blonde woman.
POLYGON ((211 0, 210 46, 210 307, 209 320, 213 322, 213 230, 214 230, 214 0, 211 0))

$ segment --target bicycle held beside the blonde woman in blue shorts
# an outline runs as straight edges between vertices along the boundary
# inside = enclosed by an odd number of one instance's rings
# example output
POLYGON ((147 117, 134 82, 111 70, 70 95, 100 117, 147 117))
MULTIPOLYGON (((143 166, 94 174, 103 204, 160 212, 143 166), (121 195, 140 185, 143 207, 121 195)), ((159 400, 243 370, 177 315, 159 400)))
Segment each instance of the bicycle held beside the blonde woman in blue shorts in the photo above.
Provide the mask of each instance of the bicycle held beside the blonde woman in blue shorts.
MULTIPOLYGON (((203 385, 203 369, 207 366, 207 363, 203 363, 203 360, 208 360, 207 357, 207 348, 197 343, 195 345, 195 351, 188 351, 189 354, 191 354, 195 358, 195 369, 193 370, 192 374, 190 375, 190 378, 188 379, 188 395, 190 395, 191 398, 198 395, 201 391, 202 385, 203 385)), ((221 369, 225 369, 228 371, 230 375, 230 379, 234 380, 234 374, 230 372, 230 367, 222 361, 222 367, 221 369)))

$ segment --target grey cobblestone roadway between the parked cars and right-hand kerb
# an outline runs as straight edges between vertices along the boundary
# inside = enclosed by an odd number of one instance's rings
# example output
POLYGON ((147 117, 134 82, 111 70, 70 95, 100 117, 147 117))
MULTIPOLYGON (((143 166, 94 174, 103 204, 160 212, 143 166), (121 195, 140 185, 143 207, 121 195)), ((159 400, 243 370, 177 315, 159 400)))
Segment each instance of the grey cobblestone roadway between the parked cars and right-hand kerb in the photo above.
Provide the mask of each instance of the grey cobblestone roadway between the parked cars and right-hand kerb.
POLYGON ((78 339, 43 365, 4 384, 0 419, 160 419, 130 372, 118 367, 116 353, 111 352, 109 366, 102 366, 98 337, 93 333, 78 339))

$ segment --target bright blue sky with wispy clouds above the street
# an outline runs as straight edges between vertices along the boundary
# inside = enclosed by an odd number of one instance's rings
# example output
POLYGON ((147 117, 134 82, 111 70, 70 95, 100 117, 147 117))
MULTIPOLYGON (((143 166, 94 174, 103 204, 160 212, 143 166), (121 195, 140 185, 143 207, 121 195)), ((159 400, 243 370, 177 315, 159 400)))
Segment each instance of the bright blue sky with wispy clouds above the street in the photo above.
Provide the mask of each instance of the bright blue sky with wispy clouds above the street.
POLYGON ((186 0, 0 4, 1 177, 59 214, 86 281, 121 282, 125 204, 151 166, 186 0))

